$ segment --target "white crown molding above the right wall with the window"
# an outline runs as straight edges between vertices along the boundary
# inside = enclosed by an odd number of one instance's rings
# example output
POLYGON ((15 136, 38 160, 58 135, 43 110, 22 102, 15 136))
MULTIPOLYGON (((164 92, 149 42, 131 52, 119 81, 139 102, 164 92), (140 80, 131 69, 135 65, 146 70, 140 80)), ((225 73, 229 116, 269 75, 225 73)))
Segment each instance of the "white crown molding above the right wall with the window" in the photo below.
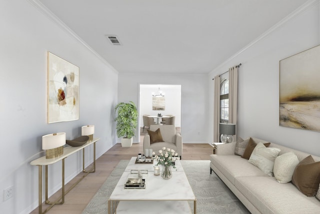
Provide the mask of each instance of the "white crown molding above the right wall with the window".
POLYGON ((279 21, 277 24, 275 24, 274 26, 272 26, 271 28, 269 28, 266 32, 264 32, 263 34, 261 34, 259 37, 257 37, 255 40, 253 40, 252 42, 250 42, 248 45, 246 45, 244 48, 242 48, 240 51, 236 52, 234 55, 232 55, 230 58, 228 58, 227 60, 225 60, 223 63, 221 63, 219 66, 217 66, 216 68, 214 68, 211 72, 209 72, 209 75, 212 75, 213 72, 217 69, 222 68, 225 64, 227 64, 229 61, 231 61, 232 59, 234 59, 235 57, 237 57, 238 55, 240 55, 241 53, 245 52, 247 49, 251 48, 252 46, 254 46, 256 43, 258 43, 259 41, 263 40, 265 37, 267 37, 268 35, 270 35, 272 32, 274 32, 275 30, 279 29, 280 27, 282 27, 283 25, 285 25, 286 23, 288 23, 289 21, 299 17, 301 14, 303 14, 305 11, 307 11, 308 9, 315 7, 316 5, 318 5, 320 2, 320 0, 309 0, 306 3, 304 3, 303 5, 301 5, 299 8, 297 8, 296 10, 294 10, 291 14, 289 14, 288 16, 284 17, 281 21, 279 21))

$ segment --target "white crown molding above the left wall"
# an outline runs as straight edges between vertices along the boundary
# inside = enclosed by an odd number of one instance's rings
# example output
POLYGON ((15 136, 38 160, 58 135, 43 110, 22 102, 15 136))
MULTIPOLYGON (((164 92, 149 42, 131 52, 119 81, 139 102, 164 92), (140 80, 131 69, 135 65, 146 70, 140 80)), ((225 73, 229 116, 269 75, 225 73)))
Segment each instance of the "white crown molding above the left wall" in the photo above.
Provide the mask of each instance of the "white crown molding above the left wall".
POLYGON ((65 25, 57 16, 55 16, 47 7, 45 7, 39 0, 26 0, 34 8, 40 11, 49 20, 59 26, 65 33, 69 34, 73 39, 83 45, 88 51, 90 51, 94 56, 101 60, 105 65, 107 65, 115 74, 118 71, 113 68, 105 59, 103 59, 98 53, 96 53, 88 44, 86 44, 76 33, 74 33, 67 25, 65 25))

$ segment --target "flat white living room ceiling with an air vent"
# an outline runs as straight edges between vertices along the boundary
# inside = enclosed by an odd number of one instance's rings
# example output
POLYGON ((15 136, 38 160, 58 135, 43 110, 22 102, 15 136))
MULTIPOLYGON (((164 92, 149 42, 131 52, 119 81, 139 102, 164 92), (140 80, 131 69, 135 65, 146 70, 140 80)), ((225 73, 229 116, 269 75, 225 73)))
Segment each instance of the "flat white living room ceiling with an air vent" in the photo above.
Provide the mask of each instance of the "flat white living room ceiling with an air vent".
MULTIPOLYGON (((119 73, 207 74, 307 0, 33 0, 119 73), (112 45, 105 35, 116 35, 112 45)), ((231 65, 230 65, 231 66, 231 65)))

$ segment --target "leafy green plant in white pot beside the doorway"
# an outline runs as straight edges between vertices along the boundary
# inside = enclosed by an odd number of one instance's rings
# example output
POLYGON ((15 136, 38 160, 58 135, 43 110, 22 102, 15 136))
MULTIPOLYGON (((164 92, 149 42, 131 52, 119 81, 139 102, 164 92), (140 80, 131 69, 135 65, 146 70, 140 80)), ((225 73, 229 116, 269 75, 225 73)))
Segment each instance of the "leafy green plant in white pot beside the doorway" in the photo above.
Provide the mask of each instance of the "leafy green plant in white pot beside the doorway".
POLYGON ((117 111, 116 134, 121 138, 122 147, 130 147, 132 145, 132 138, 137 126, 138 112, 132 101, 128 103, 120 102, 115 106, 117 111))

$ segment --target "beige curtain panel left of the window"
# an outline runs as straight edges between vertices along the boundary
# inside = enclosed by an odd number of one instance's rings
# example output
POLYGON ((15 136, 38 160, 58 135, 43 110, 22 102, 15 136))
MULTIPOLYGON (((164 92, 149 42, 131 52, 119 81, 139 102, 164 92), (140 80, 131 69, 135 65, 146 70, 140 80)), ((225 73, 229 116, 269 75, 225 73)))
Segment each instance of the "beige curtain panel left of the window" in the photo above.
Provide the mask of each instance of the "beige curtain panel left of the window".
POLYGON ((213 141, 220 142, 219 122, 220 122, 220 76, 214 77, 214 112, 213 112, 213 141))

